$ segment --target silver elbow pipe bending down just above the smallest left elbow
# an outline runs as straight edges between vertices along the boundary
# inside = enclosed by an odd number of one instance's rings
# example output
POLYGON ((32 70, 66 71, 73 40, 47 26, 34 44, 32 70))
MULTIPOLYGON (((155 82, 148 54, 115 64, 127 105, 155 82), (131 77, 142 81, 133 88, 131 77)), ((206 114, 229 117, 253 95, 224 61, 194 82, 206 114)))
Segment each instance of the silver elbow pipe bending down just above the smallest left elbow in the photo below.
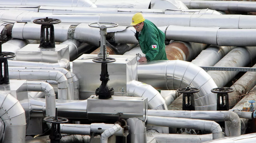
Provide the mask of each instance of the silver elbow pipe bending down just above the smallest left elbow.
POLYGON ((59 71, 9 70, 9 78, 25 80, 55 80, 58 83, 58 99, 68 98, 67 78, 59 71))

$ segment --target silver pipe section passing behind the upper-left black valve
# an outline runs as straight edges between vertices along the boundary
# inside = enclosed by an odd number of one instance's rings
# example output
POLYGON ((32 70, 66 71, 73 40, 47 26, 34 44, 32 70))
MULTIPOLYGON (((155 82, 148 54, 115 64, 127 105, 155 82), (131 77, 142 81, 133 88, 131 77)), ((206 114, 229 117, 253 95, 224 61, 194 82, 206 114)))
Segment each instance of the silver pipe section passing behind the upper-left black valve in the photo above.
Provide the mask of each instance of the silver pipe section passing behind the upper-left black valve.
MULTIPOLYGON (((70 24, 55 24, 54 40, 55 42, 64 42, 68 39, 70 24)), ((50 30, 50 29, 48 29, 50 30)), ((12 28, 12 38, 40 40, 41 25, 34 23, 18 22, 14 23, 12 28)), ((46 33, 46 31, 45 31, 46 33)), ((48 35, 50 37, 50 35, 48 35)))

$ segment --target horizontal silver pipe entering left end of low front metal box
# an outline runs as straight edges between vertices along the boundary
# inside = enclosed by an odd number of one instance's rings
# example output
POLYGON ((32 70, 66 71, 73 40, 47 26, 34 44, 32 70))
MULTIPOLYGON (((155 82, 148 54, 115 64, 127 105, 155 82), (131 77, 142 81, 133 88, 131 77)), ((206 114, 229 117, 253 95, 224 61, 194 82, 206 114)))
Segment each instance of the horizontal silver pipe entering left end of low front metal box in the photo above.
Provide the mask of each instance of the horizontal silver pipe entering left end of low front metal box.
MULTIPOLYGON (((45 99, 30 98, 31 118, 45 117, 45 99)), ((56 99, 58 116, 70 119, 87 119, 87 100, 56 99)))

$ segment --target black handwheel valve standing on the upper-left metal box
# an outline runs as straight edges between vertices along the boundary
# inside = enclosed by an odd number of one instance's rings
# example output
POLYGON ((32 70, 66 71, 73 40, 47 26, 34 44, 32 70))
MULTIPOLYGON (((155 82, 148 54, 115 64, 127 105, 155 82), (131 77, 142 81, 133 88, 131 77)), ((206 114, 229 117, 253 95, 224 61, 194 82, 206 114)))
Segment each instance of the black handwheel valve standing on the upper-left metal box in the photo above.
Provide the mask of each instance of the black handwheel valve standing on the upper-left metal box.
POLYGON ((61 20, 55 18, 40 18, 33 20, 35 24, 41 24, 41 34, 40 34, 40 48, 54 48, 55 40, 54 40, 54 26, 53 24, 61 23, 61 20), (48 38, 50 29, 50 41, 48 38), (46 29, 46 36, 44 34, 46 29), (45 39, 46 38, 46 39, 45 39))

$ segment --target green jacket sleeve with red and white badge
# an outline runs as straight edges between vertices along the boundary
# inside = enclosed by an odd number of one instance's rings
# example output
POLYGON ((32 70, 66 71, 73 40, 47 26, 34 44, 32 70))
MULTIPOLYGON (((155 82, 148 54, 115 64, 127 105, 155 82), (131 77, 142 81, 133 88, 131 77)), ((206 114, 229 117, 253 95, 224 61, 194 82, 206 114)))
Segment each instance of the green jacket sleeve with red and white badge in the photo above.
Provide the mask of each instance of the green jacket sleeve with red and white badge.
POLYGON ((148 61, 153 60, 156 55, 159 53, 159 44, 157 39, 157 33, 151 32, 147 34, 147 45, 149 45, 149 51, 146 53, 146 59, 148 61))

